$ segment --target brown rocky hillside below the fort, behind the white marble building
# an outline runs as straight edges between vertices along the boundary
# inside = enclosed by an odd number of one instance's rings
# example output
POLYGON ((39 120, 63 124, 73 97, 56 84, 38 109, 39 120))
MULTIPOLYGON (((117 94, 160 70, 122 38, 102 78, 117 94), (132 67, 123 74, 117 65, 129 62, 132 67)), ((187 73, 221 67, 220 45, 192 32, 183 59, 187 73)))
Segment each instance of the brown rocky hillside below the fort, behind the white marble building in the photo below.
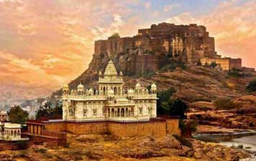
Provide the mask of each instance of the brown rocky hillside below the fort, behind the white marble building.
MULTIPOLYGON (((125 61, 126 59, 123 57, 114 58, 114 64, 118 71, 122 70, 125 61)), ((88 69, 77 79, 70 82, 70 88, 76 89, 80 83, 86 88, 96 88, 99 70, 104 70, 108 62, 109 57, 107 56, 93 56, 88 69)), ((159 90, 174 87, 176 92, 173 97, 179 97, 188 102, 208 101, 221 97, 234 98, 247 94, 245 87, 255 76, 255 73, 251 73, 244 77, 229 77, 227 72, 219 69, 191 66, 186 67, 186 69, 178 68, 170 71, 156 70, 155 74, 150 76, 124 76, 124 86, 134 87, 136 82, 147 86, 155 82, 159 90)), ((52 97, 58 97, 60 94, 61 90, 53 93, 52 97)))

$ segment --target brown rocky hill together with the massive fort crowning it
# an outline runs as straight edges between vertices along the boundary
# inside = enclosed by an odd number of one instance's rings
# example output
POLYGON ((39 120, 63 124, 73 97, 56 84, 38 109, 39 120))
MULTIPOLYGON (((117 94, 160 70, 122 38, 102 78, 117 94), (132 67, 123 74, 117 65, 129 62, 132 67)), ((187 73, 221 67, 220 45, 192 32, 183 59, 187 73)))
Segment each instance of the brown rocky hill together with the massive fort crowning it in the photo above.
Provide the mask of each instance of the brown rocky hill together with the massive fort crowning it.
MULTIPOLYGON (((88 69, 70 82, 69 87, 76 89, 82 83, 86 88, 96 89, 99 71, 104 73, 112 59, 117 72, 123 72, 127 87, 133 87, 137 81, 145 86, 155 82, 159 90, 174 87, 173 97, 188 102, 246 94, 245 87, 255 77, 255 72, 230 77, 221 69, 193 65, 199 55, 216 57, 214 38, 209 36, 205 26, 162 23, 150 29, 139 29, 133 37, 121 38, 114 34, 95 42, 88 69), (189 47, 193 47, 193 52, 189 52, 189 47)), ((61 90, 54 92, 51 98, 58 98, 60 94, 61 90)))

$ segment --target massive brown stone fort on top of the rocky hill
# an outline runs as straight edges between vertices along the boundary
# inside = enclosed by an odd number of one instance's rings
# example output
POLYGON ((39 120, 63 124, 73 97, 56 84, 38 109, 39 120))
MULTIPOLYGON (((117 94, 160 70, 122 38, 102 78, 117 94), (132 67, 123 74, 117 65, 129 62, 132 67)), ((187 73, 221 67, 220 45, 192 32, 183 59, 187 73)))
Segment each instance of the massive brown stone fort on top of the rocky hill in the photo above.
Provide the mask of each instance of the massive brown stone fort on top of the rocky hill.
POLYGON ((242 60, 221 58, 215 51, 214 37, 205 26, 196 24, 152 24, 150 29, 139 29, 133 37, 114 34, 95 42, 94 56, 125 59, 119 64, 124 74, 137 74, 163 67, 168 59, 203 66, 216 62, 223 70, 241 69, 242 60), (129 55, 129 57, 127 57, 129 55))

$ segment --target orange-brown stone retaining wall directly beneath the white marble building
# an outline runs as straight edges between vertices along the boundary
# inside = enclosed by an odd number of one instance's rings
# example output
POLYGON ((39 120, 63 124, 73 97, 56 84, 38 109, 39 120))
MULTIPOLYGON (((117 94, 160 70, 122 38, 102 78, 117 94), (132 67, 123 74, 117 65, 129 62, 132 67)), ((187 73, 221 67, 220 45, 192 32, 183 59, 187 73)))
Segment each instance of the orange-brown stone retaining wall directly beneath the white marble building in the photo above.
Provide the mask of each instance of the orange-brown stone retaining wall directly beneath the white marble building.
POLYGON ((180 135, 178 119, 150 122, 51 122, 45 130, 70 132, 76 135, 111 133, 117 137, 164 137, 169 134, 180 135))

